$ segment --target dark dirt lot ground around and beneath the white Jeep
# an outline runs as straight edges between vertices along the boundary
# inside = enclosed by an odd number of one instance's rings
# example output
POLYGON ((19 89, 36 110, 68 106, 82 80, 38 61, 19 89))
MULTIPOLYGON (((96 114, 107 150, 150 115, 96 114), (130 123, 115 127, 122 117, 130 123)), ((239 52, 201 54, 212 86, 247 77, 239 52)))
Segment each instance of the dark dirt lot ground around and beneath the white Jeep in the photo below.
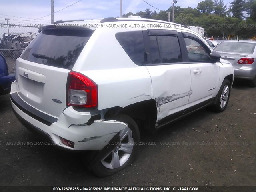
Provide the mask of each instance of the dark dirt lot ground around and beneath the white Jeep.
POLYGON ((0 96, 0 186, 255 186, 256 88, 244 84, 235 82, 220 114, 204 109, 142 132, 157 145, 140 146, 134 164, 107 178, 92 176, 80 153, 32 145, 41 140, 18 122, 10 95, 0 96))

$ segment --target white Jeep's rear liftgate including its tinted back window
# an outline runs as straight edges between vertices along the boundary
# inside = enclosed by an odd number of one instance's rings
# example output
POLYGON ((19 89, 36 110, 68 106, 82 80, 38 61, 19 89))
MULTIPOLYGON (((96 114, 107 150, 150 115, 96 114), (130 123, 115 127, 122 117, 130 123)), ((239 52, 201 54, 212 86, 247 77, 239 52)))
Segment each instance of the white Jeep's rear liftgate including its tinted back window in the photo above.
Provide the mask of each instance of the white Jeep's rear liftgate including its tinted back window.
POLYGON ((59 117, 66 107, 68 72, 92 33, 83 27, 45 26, 17 59, 19 96, 34 108, 59 117))

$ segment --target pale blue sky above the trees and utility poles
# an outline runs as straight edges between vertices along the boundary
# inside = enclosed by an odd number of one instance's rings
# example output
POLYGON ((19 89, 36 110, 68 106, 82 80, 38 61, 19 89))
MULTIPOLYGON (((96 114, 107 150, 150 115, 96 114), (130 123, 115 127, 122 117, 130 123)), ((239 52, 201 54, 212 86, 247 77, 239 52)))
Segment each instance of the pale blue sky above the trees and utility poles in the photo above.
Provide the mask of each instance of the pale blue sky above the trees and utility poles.
MULTIPOLYGON (((78 0, 54 0, 54 12, 69 6, 78 0)), ((152 6, 167 10, 172 6, 172 0, 145 0, 152 6)), ((178 0, 176 6, 196 8, 201 0, 178 0)), ((232 0, 224 0, 230 5, 232 0)), ((123 14, 128 12, 144 11, 147 8, 157 9, 146 4, 143 0, 122 0, 123 14)), ((51 0, 1 0, 0 23, 6 23, 4 18, 9 18, 9 24, 50 24, 51 0), (32 20, 35 18, 41 19, 32 20)), ((80 2, 54 14, 54 20, 89 20, 106 17, 120 16, 120 0, 81 0, 80 2)))

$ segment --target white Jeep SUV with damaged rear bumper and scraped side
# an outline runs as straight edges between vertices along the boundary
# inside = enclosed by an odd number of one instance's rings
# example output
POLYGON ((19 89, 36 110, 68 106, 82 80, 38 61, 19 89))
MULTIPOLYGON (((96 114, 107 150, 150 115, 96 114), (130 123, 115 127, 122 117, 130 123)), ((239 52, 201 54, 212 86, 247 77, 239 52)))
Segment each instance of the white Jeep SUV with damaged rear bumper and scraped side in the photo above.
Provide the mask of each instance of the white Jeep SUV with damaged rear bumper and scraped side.
POLYGON ((69 150, 94 150, 98 176, 138 152, 138 124, 156 130, 212 105, 222 112, 234 70, 192 30, 170 22, 105 18, 41 28, 16 62, 14 113, 69 150))

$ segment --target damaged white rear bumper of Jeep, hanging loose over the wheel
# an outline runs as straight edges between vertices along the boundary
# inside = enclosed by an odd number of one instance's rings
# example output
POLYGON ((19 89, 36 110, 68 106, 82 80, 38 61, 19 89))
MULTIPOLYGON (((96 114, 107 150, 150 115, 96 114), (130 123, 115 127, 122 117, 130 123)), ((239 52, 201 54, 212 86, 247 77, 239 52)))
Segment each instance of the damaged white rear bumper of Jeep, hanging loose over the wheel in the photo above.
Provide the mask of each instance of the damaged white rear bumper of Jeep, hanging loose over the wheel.
POLYGON ((91 119, 91 114, 78 112, 72 106, 66 108, 58 119, 48 118, 47 122, 44 122, 42 118, 46 116, 40 117, 40 114, 33 116, 32 113, 35 111, 31 110, 34 108, 23 101, 18 96, 18 92, 12 93, 10 96, 14 113, 24 126, 47 136, 54 144, 70 150, 101 150, 120 130, 127 126, 127 124, 116 120, 94 120, 92 124, 88 125, 86 123, 91 119), (51 122, 49 123, 49 121, 51 122), (61 138, 73 142, 74 147, 62 143, 61 138))

